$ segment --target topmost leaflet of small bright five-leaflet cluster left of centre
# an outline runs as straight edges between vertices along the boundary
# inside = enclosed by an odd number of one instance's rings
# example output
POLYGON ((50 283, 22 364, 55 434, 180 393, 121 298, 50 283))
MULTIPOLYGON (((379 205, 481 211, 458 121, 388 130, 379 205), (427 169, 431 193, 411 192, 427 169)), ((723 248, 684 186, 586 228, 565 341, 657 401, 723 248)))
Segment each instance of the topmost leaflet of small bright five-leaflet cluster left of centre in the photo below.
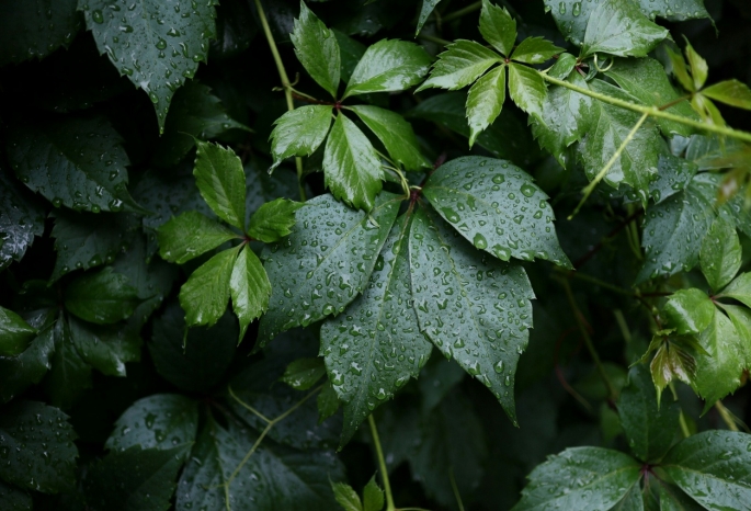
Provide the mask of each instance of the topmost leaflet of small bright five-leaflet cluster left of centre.
POLYGON ((208 206, 229 225, 244 230, 246 174, 234 150, 196 140, 193 175, 208 206))

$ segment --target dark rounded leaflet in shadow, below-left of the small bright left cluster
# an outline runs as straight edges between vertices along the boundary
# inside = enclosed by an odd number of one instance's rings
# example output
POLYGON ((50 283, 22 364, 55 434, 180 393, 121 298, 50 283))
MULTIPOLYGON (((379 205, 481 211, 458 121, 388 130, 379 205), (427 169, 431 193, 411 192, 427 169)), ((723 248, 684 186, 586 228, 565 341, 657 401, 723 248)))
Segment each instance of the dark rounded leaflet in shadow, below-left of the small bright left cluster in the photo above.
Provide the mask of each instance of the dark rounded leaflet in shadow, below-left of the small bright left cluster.
POLYGON ((65 289, 66 308, 96 325, 112 325, 129 318, 137 304, 138 293, 128 279, 110 266, 77 277, 65 289))

